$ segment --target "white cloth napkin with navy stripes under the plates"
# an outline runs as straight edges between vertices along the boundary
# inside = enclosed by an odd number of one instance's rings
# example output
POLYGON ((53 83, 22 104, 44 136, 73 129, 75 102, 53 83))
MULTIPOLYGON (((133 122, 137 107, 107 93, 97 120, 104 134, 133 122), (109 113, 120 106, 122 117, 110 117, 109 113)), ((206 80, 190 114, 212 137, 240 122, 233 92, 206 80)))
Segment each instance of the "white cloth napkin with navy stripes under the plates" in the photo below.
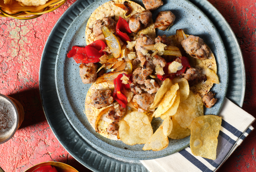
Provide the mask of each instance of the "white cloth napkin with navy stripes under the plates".
POLYGON ((255 118, 225 98, 219 113, 222 117, 218 136, 217 158, 195 156, 190 147, 154 160, 140 161, 150 172, 212 172, 216 171, 254 129, 255 118))

